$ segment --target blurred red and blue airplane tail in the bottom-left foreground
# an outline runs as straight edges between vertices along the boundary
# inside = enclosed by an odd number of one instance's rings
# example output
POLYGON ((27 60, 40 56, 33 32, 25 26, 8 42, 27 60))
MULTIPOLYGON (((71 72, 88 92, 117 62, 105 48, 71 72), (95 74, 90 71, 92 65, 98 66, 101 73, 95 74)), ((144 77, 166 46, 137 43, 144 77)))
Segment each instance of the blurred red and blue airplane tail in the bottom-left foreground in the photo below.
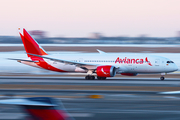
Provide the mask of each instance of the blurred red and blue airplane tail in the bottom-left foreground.
POLYGON ((63 105, 57 104, 56 99, 53 98, 35 97, 0 100, 0 104, 23 106, 31 120, 74 120, 68 115, 63 105))

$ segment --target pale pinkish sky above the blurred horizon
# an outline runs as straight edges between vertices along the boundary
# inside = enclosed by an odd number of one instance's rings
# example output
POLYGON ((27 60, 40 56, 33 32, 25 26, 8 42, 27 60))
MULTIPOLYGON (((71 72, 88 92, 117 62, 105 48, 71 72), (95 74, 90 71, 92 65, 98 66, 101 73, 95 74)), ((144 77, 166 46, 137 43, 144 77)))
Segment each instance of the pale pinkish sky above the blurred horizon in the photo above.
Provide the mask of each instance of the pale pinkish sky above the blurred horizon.
POLYGON ((61 37, 174 37, 179 5, 180 0, 0 0, 0 35, 18 36, 20 27, 61 37))

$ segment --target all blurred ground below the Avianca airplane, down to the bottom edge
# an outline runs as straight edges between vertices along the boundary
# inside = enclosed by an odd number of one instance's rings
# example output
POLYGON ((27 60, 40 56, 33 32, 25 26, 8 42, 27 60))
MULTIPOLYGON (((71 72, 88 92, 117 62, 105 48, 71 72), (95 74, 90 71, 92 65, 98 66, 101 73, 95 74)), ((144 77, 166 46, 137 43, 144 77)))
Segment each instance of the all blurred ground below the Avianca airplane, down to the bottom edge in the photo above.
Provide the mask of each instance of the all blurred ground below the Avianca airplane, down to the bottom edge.
MULTIPOLYGON (((179 87, 178 78, 0 77, 0 99, 55 97, 76 120, 179 120, 180 95, 160 94, 179 87)), ((23 120, 26 114, 17 106, 0 105, 0 116, 23 120)))

